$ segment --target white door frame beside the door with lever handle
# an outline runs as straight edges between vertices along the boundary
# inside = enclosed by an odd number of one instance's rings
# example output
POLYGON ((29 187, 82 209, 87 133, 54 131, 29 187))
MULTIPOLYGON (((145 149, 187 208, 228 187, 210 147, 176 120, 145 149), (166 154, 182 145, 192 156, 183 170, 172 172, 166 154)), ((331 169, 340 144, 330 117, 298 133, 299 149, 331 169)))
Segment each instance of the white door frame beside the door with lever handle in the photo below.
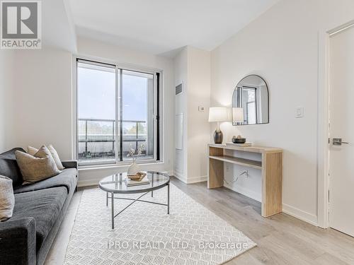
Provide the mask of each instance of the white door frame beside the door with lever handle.
POLYGON ((319 31, 317 102, 317 225, 329 228, 329 40, 331 35, 354 26, 354 20, 331 30, 319 31))

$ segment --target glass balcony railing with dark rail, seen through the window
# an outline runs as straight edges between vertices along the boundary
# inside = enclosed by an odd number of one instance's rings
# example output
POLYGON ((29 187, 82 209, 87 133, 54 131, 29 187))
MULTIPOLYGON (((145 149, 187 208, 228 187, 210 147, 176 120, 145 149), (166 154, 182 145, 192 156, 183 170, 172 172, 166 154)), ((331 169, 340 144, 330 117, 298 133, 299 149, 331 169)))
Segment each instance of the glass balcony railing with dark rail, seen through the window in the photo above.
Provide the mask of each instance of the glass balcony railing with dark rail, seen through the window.
MULTIPOLYGON (((146 121, 122 120, 122 131, 122 156, 126 160, 130 145, 137 149, 139 143, 147 141, 146 121)), ((79 119, 79 160, 114 159, 116 141, 114 119, 79 119)), ((146 149, 143 157, 147 156, 146 149)))

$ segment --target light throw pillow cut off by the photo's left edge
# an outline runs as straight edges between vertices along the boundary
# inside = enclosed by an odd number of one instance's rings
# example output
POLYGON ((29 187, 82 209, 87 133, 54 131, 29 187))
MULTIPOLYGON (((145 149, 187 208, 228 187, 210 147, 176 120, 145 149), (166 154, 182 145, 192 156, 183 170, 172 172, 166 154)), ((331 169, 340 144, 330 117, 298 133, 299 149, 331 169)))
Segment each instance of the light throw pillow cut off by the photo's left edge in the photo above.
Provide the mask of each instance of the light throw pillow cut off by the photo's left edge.
POLYGON ((0 175, 0 222, 11 218, 15 206, 12 179, 0 175))

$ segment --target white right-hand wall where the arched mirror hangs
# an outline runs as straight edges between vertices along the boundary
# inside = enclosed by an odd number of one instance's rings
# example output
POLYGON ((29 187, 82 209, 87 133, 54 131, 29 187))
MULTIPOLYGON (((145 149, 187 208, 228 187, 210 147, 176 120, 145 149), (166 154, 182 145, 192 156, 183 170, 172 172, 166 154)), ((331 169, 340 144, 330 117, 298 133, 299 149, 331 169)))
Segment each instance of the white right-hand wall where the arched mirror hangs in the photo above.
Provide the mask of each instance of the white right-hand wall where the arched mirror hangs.
POLYGON ((226 141, 242 134, 284 148, 283 210, 310 223, 317 223, 318 35, 353 18, 353 1, 283 0, 212 51, 212 105, 230 105, 250 73, 267 81, 270 124, 224 123, 222 131, 226 141), (295 119, 297 106, 302 119, 295 119))

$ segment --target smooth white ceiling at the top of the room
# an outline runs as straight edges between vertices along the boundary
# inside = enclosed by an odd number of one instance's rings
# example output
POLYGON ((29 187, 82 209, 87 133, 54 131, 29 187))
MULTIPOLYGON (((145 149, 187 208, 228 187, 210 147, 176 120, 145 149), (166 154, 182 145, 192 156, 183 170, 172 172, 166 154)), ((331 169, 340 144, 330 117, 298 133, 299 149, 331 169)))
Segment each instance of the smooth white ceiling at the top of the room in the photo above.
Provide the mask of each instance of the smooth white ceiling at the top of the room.
POLYGON ((69 0, 76 33, 153 54, 212 50, 278 0, 69 0))

